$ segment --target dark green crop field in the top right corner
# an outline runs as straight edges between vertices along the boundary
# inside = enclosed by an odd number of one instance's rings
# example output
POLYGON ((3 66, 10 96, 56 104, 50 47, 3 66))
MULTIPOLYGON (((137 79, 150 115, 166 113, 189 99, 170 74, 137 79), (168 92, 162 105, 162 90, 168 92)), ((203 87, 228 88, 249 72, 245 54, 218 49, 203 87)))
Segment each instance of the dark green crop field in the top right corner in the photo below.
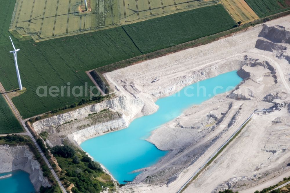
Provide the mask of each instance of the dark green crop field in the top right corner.
POLYGON ((259 17, 266 17, 289 9, 289 0, 245 0, 259 17))

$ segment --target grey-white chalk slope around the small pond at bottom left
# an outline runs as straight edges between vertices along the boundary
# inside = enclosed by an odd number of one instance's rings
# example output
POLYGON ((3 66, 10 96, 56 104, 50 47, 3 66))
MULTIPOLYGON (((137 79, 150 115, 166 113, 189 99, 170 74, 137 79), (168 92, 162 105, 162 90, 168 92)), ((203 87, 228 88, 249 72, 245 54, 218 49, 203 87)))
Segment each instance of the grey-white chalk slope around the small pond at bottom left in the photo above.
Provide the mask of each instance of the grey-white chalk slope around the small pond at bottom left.
POLYGON ((30 174, 30 181, 37 192, 41 186, 51 186, 48 179, 43 176, 40 163, 34 159, 34 154, 27 145, 0 145, 0 155, 0 173, 24 170, 30 174))

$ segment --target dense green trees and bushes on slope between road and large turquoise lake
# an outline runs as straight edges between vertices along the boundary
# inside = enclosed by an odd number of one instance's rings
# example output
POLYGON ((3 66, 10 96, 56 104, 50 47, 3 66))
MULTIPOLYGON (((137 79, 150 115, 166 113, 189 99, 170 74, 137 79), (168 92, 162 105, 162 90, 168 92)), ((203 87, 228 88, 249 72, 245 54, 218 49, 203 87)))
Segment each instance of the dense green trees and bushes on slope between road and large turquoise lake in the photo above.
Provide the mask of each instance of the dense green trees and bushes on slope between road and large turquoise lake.
POLYGON ((114 190, 111 177, 103 172, 100 164, 92 161, 84 151, 75 150, 69 145, 57 145, 51 149, 51 152, 62 169, 60 180, 66 187, 70 183, 75 185, 72 192, 94 193, 103 191, 105 187, 114 190))

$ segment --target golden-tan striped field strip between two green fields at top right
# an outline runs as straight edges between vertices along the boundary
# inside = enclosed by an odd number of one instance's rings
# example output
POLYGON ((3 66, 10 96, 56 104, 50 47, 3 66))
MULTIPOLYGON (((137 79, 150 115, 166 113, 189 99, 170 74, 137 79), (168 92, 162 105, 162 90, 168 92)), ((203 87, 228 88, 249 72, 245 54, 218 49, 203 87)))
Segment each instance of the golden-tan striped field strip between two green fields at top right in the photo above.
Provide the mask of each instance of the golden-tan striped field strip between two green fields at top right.
POLYGON ((244 0, 221 0, 221 2, 237 23, 239 21, 247 23, 259 19, 259 16, 244 0))

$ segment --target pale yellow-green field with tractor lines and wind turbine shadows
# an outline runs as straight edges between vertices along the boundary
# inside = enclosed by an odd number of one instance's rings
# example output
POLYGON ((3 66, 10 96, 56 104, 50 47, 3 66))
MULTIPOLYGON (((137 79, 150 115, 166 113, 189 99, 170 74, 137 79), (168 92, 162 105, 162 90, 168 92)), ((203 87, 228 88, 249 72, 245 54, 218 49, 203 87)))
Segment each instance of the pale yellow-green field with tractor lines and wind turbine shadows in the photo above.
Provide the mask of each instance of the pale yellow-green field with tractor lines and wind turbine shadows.
POLYGON ((90 8, 84 11, 84 1, 78 0, 16 0, 10 30, 41 41, 218 3, 219 0, 89 0, 90 8))

